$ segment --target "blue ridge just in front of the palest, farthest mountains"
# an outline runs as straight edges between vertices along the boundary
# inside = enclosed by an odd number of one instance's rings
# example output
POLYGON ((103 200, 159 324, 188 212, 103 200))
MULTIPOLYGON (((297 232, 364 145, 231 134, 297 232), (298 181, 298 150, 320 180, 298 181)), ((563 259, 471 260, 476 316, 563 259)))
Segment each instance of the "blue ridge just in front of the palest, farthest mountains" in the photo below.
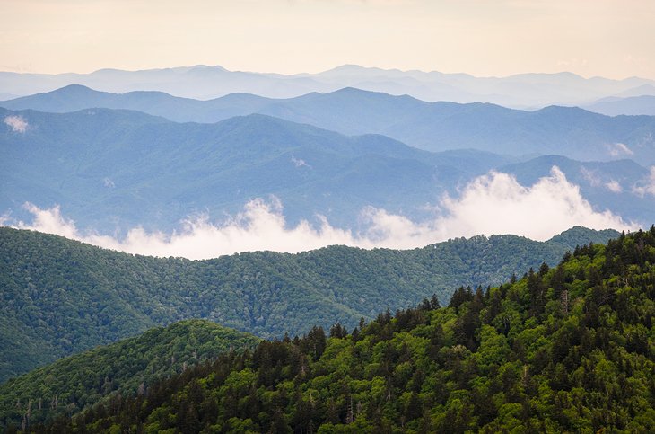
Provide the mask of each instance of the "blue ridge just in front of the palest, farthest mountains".
POLYGON ((238 93, 196 101, 153 92, 100 93, 79 85, 0 105, 55 112, 127 109, 179 122, 209 123, 260 113, 346 135, 382 134, 432 152, 475 148, 578 160, 628 157, 655 164, 655 117, 610 118, 571 107, 517 111, 484 103, 424 102, 354 88, 284 100, 238 93))

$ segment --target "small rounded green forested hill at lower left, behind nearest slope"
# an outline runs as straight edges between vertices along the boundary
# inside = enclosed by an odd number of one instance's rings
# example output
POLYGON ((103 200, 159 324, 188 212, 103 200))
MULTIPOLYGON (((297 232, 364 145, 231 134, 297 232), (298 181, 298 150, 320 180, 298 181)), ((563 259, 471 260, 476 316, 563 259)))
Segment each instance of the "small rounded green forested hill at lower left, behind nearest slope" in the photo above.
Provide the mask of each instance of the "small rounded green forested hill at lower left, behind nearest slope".
POLYGON ((0 385, 0 427, 78 412, 110 394, 144 394, 155 379, 235 350, 252 350, 259 338, 203 320, 166 328, 57 360, 0 385))

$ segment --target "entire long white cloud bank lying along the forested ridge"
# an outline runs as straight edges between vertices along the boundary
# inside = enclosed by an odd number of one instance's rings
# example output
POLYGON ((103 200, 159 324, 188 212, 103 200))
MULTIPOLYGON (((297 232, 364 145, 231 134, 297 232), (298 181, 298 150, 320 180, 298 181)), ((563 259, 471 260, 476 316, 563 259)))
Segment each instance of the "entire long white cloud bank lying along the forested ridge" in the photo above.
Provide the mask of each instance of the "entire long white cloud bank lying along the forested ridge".
MULTIPOLYGON (((154 256, 212 258, 234 252, 272 250, 301 252, 331 244, 362 248, 407 249, 458 236, 515 234, 546 240, 572 226, 594 229, 633 230, 632 223, 609 211, 594 210, 582 198, 580 189, 554 167, 549 176, 532 186, 522 186, 506 173, 489 173, 476 178, 454 198, 444 196, 432 219, 414 222, 379 208, 362 210, 366 229, 354 233, 330 225, 325 217, 312 226, 303 221, 287 227, 282 205, 256 199, 243 211, 222 222, 208 216, 189 218, 171 234, 146 232, 136 227, 122 239, 98 233, 84 233, 65 218, 59 207, 41 209, 26 204, 31 223, 11 226, 63 235, 89 244, 124 252, 154 256)), ((4 222, 4 224, 11 222, 4 222)))

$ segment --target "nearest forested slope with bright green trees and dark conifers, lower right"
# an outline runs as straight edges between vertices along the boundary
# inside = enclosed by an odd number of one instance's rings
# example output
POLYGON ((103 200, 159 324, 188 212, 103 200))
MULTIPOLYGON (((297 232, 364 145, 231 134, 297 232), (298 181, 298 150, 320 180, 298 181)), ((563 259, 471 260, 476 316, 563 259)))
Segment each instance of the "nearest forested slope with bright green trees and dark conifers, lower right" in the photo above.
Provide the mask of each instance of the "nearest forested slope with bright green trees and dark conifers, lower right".
MULTIPOLYGON (((31 432, 652 432, 655 226, 499 286, 263 341, 31 432)), ((22 428, 22 427, 18 427, 22 428)))

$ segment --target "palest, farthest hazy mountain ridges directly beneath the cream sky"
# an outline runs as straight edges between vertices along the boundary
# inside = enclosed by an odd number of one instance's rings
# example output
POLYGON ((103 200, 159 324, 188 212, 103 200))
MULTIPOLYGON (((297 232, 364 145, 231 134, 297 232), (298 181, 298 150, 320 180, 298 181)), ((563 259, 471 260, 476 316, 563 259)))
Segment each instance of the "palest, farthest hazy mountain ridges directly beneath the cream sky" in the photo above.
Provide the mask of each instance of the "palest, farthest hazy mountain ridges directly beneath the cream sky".
POLYGON ((188 98, 212 99, 229 93, 255 93, 290 98, 343 87, 390 94, 409 94, 424 101, 493 102, 515 108, 580 105, 618 94, 642 92, 655 81, 639 77, 610 80, 572 73, 475 77, 436 71, 399 71, 356 65, 318 74, 261 74, 228 71, 221 66, 185 66, 142 71, 102 69, 91 74, 19 74, 0 72, 0 93, 29 95, 68 84, 106 92, 160 91, 188 98))

